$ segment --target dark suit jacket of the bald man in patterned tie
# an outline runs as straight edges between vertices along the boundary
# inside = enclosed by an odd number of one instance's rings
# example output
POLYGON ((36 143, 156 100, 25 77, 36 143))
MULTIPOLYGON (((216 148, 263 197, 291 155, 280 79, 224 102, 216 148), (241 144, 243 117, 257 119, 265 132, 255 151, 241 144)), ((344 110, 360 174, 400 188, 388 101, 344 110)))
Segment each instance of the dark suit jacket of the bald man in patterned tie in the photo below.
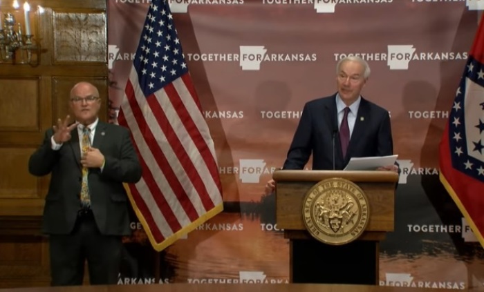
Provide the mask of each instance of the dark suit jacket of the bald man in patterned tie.
MULTIPOLYGON (((47 130, 44 143, 30 156, 28 170, 32 175, 51 174, 44 206, 42 231, 47 234, 69 234, 80 209, 82 179, 81 153, 77 128, 71 140, 60 150, 52 150, 47 130)), ((138 155, 129 131, 121 126, 99 121, 93 147, 105 157, 104 168, 89 169, 89 193, 95 222, 103 235, 129 235, 129 199, 123 182, 136 183, 141 177, 138 155)))

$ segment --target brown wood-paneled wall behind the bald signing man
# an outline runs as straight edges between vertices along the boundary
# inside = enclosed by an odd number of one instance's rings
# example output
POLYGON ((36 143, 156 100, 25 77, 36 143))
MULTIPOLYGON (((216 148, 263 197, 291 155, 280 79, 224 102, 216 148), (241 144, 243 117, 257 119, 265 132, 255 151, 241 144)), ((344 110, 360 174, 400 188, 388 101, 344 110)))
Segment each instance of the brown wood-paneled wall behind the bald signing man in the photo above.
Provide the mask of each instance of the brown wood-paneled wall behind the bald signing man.
MULTIPOLYGON (((106 0, 28 3, 39 55, 32 56, 32 65, 18 64, 26 52, 18 50, 17 64, 0 63, 0 288, 50 282, 48 239, 40 234, 49 177, 30 175, 28 158, 45 130, 68 114, 72 86, 95 84, 102 97, 100 118, 107 117, 106 0)), ((24 12, 12 1, 1 1, 0 11, 12 13, 24 28, 24 12)))

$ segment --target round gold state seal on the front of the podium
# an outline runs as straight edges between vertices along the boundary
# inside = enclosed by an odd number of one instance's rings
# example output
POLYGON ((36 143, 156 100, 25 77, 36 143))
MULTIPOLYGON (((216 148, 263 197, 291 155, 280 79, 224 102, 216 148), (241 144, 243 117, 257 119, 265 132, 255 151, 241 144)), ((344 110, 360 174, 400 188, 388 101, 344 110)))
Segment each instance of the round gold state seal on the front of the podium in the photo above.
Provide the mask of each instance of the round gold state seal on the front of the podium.
POLYGON ((369 201, 362 189, 348 179, 318 182, 303 201, 307 230, 320 242, 347 244, 359 237, 370 218, 369 201))

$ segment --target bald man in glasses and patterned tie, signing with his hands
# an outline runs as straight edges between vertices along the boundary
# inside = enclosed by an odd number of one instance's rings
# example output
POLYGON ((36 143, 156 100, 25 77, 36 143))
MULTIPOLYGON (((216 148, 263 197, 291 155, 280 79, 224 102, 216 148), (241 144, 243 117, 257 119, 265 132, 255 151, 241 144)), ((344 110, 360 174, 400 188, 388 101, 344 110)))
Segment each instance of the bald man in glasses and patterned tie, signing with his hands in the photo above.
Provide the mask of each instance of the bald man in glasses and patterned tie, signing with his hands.
POLYGON ((49 235, 52 285, 82 284, 86 260, 91 284, 115 284, 121 236, 131 233, 123 182, 138 182, 140 162, 129 131, 99 120, 93 84, 76 84, 69 106, 75 122, 59 119, 28 162, 32 175, 51 174, 42 229, 49 235))

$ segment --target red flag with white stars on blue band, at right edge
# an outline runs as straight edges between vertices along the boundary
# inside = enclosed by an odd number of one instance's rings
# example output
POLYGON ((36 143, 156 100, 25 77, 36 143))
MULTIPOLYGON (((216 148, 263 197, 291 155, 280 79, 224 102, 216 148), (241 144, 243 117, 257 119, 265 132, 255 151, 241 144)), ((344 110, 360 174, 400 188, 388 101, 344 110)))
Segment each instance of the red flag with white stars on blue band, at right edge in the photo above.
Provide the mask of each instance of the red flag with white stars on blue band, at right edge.
MULTIPOLYGON (((484 17, 484 14, 483 14, 484 17)), ((484 246, 484 21, 439 146, 440 182, 484 246)))

